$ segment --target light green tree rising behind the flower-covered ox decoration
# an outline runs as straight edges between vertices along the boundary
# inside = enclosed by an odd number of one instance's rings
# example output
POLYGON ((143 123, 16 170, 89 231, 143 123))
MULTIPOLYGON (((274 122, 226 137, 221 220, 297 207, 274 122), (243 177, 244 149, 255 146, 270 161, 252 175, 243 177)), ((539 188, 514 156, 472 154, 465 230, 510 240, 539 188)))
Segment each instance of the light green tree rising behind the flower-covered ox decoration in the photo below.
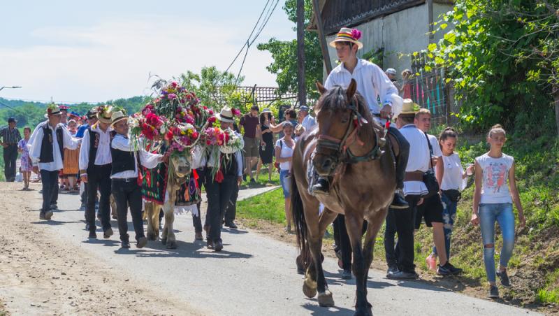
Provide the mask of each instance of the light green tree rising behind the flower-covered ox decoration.
POLYGON ((182 85, 201 99, 205 106, 221 110, 224 106, 240 104, 242 95, 236 92, 238 85, 245 80, 240 76, 235 78, 233 73, 222 72, 215 66, 203 67, 198 75, 187 71, 181 75, 182 85))

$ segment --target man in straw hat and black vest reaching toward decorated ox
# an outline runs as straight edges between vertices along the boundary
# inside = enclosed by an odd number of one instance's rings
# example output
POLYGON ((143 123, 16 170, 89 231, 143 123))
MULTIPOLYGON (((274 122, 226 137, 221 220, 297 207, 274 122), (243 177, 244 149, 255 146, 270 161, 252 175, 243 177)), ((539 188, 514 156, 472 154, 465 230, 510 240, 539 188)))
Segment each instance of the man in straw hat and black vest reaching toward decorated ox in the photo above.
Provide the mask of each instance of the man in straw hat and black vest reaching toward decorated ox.
POLYGON ((110 170, 111 190, 117 203, 118 231, 122 248, 129 248, 128 208, 132 216, 134 231, 136 232, 136 247, 142 248, 147 243, 142 219, 142 187, 138 184, 138 170, 141 166, 155 168, 163 161, 164 156, 152 154, 140 148, 134 148, 128 135, 128 116, 124 110, 112 113, 111 127, 116 135, 110 142, 112 164, 110 170))

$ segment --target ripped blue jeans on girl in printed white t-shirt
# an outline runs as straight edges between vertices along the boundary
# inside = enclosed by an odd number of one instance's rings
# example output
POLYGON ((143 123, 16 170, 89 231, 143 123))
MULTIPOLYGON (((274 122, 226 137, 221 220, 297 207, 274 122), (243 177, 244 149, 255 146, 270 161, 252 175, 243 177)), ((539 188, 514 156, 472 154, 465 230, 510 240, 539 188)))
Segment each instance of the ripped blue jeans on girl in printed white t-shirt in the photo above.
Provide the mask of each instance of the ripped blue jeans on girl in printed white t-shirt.
POLYGON ((495 221, 502 231, 500 265, 506 268, 514 247, 514 213, 511 203, 479 204, 479 226, 484 240, 484 264, 489 282, 495 282, 495 221))

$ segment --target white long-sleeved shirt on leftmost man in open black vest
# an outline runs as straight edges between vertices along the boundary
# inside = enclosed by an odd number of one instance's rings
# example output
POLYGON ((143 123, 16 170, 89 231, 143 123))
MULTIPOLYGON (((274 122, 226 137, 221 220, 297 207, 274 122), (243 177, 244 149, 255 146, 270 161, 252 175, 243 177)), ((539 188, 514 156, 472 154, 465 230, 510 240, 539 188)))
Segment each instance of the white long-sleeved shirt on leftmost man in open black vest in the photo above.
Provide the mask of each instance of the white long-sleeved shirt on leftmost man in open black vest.
MULTIPOLYGON (((58 124, 58 127, 62 127, 62 136, 64 137, 63 143, 64 148, 70 150, 75 150, 80 145, 81 139, 73 137, 68 129, 64 127, 64 124, 58 124)), ((56 129, 52 129, 48 121, 39 123, 35 127, 33 132, 33 138, 29 138, 28 143, 29 148, 29 158, 31 158, 31 163, 33 166, 38 166, 39 170, 46 171, 57 171, 64 168, 64 162, 62 161, 62 156, 60 155, 60 150, 58 148, 58 139, 56 129), (52 162, 41 162, 39 157, 41 157, 41 145, 43 145, 43 124, 47 124, 48 129, 52 132, 52 162)))

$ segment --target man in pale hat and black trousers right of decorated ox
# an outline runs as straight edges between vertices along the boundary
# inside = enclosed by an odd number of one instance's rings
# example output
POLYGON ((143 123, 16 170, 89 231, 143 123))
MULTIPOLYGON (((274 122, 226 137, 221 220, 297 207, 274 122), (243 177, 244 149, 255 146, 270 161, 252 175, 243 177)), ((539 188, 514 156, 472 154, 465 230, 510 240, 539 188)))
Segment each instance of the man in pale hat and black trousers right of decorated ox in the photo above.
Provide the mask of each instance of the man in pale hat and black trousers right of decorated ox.
MULTIPOLYGON (((222 111, 218 113, 216 117, 221 123, 222 129, 233 129, 235 120, 233 119, 233 111, 231 108, 227 106, 222 108, 222 111)), ((239 134, 237 134, 237 136, 241 137, 239 134)), ((208 210, 206 213, 206 225, 208 228, 207 247, 217 252, 223 249, 222 219, 224 218, 227 204, 231 199, 231 194, 233 194, 235 185, 240 186, 242 183, 241 150, 231 155, 221 154, 219 156, 219 159, 222 159, 219 164, 219 168, 223 174, 222 179, 212 177, 212 169, 215 168, 219 162, 215 161, 215 157, 202 157, 201 162, 201 166, 206 167, 204 187, 208 198, 208 210)))

